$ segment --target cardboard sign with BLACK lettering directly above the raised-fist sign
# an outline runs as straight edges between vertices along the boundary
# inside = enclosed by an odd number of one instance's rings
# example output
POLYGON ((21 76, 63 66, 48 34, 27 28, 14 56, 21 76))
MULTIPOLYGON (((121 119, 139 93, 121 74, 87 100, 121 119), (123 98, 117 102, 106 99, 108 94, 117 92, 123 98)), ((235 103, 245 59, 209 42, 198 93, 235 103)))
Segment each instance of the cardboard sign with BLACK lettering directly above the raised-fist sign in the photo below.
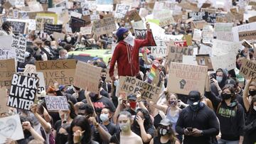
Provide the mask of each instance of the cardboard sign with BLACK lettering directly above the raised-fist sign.
POLYGON ((169 46, 171 62, 182 62, 183 55, 193 55, 193 49, 188 47, 169 46))

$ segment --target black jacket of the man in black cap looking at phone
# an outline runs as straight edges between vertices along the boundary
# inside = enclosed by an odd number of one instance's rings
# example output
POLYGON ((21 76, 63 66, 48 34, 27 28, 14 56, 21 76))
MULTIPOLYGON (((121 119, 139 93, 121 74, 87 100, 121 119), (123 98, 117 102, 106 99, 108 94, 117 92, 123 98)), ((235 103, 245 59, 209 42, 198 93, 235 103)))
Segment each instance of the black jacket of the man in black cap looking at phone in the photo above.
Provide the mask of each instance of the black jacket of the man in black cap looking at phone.
POLYGON ((203 136, 184 135, 183 144, 210 144, 210 137, 218 135, 220 131, 214 111, 203 103, 198 111, 193 111, 191 106, 182 109, 176 123, 176 132, 183 135, 184 129, 188 127, 203 131, 203 136))

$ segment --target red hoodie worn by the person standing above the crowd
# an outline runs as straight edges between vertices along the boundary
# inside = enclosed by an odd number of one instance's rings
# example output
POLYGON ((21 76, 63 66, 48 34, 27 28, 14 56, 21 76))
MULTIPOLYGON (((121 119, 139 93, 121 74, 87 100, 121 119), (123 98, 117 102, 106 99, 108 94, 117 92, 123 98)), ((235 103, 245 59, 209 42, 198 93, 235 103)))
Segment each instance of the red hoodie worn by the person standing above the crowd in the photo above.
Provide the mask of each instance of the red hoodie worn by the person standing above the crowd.
POLYGON ((118 75, 134 77, 139 73, 139 48, 154 44, 151 31, 147 31, 145 40, 134 40, 134 47, 120 40, 114 49, 110 62, 110 77, 114 75, 114 65, 117 61, 118 75))

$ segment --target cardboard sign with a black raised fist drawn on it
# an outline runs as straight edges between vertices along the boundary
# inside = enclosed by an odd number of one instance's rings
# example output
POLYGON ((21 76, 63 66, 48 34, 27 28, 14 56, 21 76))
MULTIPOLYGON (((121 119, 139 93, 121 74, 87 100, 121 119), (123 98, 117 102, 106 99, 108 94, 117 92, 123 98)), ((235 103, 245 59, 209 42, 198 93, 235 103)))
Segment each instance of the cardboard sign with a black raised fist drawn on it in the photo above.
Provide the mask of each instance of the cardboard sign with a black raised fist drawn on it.
POLYGON ((167 88, 175 94, 204 93, 208 67, 171 62, 167 88))

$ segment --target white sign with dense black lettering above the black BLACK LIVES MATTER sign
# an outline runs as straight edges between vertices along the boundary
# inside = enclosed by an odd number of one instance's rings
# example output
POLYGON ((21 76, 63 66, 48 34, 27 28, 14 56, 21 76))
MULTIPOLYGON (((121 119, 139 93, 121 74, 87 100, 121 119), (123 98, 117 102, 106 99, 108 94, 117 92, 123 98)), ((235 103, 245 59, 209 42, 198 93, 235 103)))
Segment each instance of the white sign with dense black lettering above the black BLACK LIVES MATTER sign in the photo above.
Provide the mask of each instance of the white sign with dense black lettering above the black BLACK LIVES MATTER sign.
POLYGON ((11 48, 16 50, 16 60, 18 62, 25 62, 26 38, 23 38, 21 35, 13 35, 11 48))

